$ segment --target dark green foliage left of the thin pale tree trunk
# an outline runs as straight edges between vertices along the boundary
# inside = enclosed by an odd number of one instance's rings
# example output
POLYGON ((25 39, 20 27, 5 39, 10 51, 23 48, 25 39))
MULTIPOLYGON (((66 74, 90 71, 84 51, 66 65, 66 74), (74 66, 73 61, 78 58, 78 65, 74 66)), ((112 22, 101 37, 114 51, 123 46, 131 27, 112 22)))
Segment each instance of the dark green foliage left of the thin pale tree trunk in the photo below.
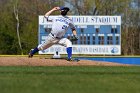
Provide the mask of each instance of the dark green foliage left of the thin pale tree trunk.
POLYGON ((11 12, 10 4, 5 4, 3 8, 5 8, 5 11, 2 8, 0 10, 2 11, 0 16, 0 53, 17 54, 19 50, 15 42, 17 38, 16 31, 14 31, 15 23, 13 13, 11 12))

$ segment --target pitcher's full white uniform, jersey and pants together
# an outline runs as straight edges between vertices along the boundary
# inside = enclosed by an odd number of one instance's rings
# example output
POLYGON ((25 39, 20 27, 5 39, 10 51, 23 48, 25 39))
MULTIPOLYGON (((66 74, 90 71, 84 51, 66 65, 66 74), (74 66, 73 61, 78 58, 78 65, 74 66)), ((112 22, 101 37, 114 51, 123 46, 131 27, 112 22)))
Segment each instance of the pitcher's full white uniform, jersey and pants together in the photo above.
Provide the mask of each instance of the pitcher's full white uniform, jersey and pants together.
POLYGON ((38 49, 44 50, 54 44, 63 45, 65 47, 72 47, 72 42, 69 39, 62 38, 69 27, 71 29, 75 29, 72 20, 66 16, 46 17, 46 18, 48 21, 52 21, 52 30, 51 33, 47 36, 45 42, 38 45, 38 49))

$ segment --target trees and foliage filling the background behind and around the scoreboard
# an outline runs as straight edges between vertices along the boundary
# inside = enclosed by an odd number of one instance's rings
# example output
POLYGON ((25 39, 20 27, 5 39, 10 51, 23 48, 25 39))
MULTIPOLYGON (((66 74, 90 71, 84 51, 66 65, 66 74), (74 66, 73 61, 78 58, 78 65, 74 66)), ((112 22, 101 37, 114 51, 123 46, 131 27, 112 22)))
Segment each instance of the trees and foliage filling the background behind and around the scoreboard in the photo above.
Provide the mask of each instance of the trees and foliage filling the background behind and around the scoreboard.
POLYGON ((0 54, 21 54, 14 15, 16 2, 23 54, 38 43, 38 15, 55 6, 64 6, 65 2, 73 8, 71 15, 121 15, 122 54, 140 53, 140 13, 139 9, 130 7, 132 0, 0 0, 0 54))

